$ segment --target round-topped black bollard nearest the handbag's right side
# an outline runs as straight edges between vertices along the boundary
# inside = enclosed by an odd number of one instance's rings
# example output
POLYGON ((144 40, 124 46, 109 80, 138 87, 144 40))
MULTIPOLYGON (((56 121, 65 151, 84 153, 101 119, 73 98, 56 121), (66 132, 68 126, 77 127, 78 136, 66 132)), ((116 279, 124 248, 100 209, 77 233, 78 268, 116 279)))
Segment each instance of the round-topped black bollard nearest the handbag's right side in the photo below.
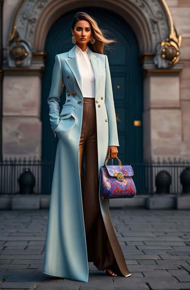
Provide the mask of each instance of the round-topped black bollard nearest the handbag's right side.
POLYGON ((169 193, 171 181, 172 177, 167 171, 160 171, 156 176, 156 193, 169 193))

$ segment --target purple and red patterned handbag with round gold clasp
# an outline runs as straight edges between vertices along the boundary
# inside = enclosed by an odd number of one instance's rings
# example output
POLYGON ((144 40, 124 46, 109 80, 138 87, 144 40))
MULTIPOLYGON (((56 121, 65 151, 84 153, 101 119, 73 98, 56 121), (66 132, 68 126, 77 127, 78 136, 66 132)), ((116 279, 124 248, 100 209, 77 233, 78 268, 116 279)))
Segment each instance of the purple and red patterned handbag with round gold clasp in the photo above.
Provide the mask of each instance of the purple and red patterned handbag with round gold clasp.
POLYGON ((132 179, 133 169, 131 165, 123 165, 118 159, 119 165, 107 165, 109 156, 105 165, 101 167, 100 172, 100 196, 104 198, 128 197, 132 198, 136 194, 136 187, 132 179))

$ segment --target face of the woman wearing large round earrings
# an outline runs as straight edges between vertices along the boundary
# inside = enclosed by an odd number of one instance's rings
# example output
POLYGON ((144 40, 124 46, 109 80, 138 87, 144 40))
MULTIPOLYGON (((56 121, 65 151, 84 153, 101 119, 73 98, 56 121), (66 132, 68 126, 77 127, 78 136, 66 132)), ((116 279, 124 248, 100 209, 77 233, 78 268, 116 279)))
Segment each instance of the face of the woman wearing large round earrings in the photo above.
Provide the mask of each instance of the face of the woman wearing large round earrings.
POLYGON ((92 29, 88 21, 86 20, 78 21, 74 27, 74 31, 73 29, 71 29, 71 31, 72 33, 74 33, 74 36, 78 43, 84 44, 90 41, 90 37, 92 35, 92 29))

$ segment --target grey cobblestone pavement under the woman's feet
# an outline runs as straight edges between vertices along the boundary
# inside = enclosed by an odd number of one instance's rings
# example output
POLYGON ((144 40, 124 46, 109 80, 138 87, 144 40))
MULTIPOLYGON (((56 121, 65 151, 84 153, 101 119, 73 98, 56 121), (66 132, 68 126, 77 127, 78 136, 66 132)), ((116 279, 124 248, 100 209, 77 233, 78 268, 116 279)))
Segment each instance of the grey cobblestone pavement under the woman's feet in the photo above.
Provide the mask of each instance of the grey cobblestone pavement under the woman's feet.
POLYGON ((89 263, 86 283, 42 273, 48 210, 0 211, 0 289, 190 289, 189 211, 110 214, 131 276, 111 277, 89 263))

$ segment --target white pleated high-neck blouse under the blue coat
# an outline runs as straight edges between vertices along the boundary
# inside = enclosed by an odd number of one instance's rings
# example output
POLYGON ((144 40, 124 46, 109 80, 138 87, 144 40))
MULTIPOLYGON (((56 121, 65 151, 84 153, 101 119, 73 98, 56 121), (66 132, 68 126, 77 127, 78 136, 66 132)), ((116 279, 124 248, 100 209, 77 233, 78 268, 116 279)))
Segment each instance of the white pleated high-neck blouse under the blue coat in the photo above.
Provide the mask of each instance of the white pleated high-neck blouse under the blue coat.
POLYGON ((88 46, 82 51, 78 45, 75 48, 77 64, 82 78, 83 98, 95 98, 94 96, 94 72, 88 57, 88 46))

